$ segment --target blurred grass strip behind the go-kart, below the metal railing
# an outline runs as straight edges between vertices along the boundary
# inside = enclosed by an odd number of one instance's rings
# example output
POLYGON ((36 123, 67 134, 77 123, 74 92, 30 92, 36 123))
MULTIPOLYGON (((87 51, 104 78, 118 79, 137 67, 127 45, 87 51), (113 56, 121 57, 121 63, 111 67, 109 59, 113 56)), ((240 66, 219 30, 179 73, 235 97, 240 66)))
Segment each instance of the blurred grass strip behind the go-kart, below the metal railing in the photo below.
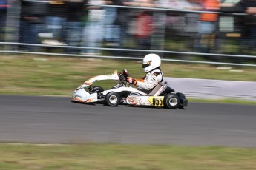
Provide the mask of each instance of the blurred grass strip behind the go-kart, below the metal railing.
MULTIPOLYGON (((122 72, 124 68, 128 69, 134 78, 142 78, 145 75, 142 71, 141 61, 1 55, 0 94, 70 96, 73 89, 76 89, 86 79, 95 75, 111 73, 115 69, 122 72)), ((165 77, 256 81, 256 69, 252 67, 217 69, 216 66, 207 64, 163 62, 161 68, 165 77), (238 72, 234 72, 234 70, 238 70, 238 72)), ((95 85, 108 89, 114 84, 116 84, 114 81, 102 81, 95 85)))

